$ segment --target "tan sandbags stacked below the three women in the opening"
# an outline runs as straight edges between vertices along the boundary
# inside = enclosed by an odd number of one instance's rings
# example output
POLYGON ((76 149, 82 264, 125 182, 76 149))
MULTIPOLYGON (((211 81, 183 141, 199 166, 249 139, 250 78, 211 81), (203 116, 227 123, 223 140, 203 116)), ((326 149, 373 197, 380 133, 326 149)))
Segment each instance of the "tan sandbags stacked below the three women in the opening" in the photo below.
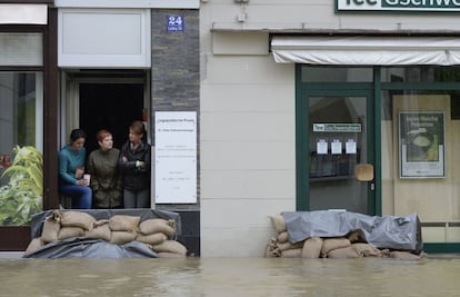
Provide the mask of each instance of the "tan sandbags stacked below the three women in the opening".
POLYGON ((54 210, 44 219, 41 236, 33 238, 26 249, 30 254, 46 244, 72 237, 103 239, 114 245, 137 240, 162 258, 187 257, 187 248, 174 240, 173 219, 152 218, 141 221, 140 216, 113 215, 97 220, 90 214, 54 210))

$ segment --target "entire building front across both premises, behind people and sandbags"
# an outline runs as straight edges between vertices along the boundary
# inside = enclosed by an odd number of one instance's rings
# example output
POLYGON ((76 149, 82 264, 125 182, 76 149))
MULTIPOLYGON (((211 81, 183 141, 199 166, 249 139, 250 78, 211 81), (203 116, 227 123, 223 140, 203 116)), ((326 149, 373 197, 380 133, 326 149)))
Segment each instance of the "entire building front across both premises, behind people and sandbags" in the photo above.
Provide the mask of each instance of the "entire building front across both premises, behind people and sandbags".
POLYGON ((121 146, 134 119, 152 143, 151 205, 181 214, 194 255, 261 257, 270 216, 319 209, 416 212, 428 251, 459 248, 454 2, 1 4, 0 170, 14 148, 43 160, 42 189, 0 181, 0 249, 23 249, 27 216, 62 202, 71 129, 91 151, 97 130, 121 146))

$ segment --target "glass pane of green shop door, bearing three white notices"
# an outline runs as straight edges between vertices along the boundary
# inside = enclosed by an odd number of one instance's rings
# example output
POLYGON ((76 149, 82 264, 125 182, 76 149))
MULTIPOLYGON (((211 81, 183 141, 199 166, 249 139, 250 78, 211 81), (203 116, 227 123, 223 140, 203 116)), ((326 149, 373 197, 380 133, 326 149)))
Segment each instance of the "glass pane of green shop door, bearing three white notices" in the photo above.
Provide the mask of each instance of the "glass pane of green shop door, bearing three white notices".
POLYGON ((310 97, 310 210, 367 214, 367 182, 354 166, 367 162, 367 98, 310 97))

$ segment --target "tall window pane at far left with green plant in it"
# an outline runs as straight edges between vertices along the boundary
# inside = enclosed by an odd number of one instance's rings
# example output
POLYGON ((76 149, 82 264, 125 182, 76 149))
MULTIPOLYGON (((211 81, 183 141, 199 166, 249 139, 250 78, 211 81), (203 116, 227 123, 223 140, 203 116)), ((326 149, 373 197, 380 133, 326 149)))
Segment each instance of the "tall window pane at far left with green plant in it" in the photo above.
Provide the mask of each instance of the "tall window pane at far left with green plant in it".
POLYGON ((0 72, 0 226, 42 210, 42 75, 0 72))

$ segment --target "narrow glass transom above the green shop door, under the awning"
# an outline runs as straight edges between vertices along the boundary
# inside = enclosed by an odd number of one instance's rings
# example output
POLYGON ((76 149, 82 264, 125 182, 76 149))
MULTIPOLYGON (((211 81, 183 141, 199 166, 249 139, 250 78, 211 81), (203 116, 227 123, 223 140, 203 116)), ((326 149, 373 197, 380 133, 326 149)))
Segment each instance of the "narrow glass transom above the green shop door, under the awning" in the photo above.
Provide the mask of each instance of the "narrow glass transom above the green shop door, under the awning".
POLYGON ((372 68, 338 68, 302 66, 303 82, 371 82, 372 68))

